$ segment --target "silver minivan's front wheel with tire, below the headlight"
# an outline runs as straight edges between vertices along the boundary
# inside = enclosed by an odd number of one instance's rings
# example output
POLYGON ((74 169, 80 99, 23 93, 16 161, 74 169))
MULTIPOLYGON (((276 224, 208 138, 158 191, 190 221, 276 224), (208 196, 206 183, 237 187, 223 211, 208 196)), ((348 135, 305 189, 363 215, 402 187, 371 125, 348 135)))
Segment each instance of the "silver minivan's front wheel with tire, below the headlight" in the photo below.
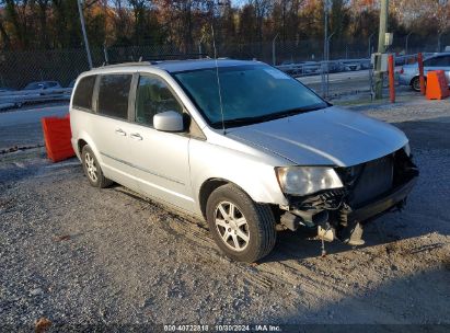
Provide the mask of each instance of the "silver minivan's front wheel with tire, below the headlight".
POLYGON ((234 185, 227 184, 212 192, 206 216, 217 245, 234 261, 256 262, 275 246, 275 218, 270 207, 254 203, 234 185))

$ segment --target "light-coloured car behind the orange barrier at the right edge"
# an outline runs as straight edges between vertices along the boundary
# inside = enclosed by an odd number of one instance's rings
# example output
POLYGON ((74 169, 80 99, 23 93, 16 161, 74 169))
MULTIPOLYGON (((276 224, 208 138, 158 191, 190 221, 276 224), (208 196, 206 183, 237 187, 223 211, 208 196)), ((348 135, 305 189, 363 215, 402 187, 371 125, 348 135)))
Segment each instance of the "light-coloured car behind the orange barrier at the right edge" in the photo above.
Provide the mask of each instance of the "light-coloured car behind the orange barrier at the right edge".
MULTIPOLYGON (((447 81, 450 82, 450 53, 441 53, 432 55, 424 60, 424 74, 430 70, 443 70, 447 81)), ((417 62, 404 65, 399 72, 399 83, 402 85, 411 85, 415 91, 420 91, 420 82, 418 76, 417 62)))

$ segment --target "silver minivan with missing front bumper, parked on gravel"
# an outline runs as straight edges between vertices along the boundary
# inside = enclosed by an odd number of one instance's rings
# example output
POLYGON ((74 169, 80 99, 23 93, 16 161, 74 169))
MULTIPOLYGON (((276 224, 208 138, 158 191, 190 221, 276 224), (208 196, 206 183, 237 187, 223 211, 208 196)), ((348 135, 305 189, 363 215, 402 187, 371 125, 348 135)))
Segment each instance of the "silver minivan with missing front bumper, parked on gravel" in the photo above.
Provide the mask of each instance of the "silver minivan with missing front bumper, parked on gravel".
POLYGON ((70 123, 92 186, 117 182, 205 219, 243 262, 300 226, 361 244, 361 222, 402 207, 418 175, 400 129, 258 61, 93 69, 77 80, 70 123))

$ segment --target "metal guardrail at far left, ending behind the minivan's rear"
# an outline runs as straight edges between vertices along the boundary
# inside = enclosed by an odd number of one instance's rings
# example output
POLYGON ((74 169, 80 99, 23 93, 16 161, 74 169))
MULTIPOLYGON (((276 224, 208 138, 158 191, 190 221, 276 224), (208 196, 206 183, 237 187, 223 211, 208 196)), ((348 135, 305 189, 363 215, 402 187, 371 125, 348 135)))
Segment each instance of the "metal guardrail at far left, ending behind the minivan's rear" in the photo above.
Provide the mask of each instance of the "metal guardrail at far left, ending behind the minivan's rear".
POLYGON ((0 92, 0 110, 21 107, 32 103, 68 101, 71 93, 72 88, 0 92))

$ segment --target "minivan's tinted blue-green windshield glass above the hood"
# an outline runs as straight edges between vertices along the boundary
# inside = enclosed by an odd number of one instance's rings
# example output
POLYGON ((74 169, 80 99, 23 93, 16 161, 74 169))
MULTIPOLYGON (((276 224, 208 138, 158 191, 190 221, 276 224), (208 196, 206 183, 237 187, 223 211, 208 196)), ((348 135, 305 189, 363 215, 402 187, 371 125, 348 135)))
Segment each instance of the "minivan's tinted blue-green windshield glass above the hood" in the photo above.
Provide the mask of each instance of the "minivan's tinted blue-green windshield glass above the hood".
MULTIPOLYGON (((216 68, 173 76, 196 103, 206 120, 221 127, 216 68)), ((275 119, 323 108, 327 103, 296 79, 266 65, 219 67, 223 119, 227 127, 275 119)))

